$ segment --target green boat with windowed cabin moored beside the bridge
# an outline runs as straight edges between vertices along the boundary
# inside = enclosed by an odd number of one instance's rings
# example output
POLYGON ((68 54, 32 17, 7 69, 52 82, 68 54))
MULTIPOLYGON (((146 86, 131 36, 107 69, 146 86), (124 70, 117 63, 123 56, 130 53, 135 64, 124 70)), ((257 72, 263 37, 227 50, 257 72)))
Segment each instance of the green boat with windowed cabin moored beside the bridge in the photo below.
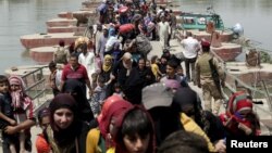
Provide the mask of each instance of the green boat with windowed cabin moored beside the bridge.
POLYGON ((180 24, 181 29, 199 29, 206 30, 206 25, 208 22, 212 22, 215 29, 223 30, 224 23, 219 14, 200 14, 200 13, 182 13, 180 24))

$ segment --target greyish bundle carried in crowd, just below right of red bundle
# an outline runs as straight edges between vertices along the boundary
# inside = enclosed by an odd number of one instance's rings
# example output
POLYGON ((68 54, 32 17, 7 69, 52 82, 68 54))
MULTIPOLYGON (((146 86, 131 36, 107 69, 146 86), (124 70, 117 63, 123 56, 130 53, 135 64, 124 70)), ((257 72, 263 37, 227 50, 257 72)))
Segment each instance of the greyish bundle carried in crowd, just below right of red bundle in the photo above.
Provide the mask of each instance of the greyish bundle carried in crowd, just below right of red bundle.
POLYGON ((152 50, 152 46, 151 46, 150 41, 143 34, 140 34, 136 37, 135 42, 136 42, 137 51, 144 53, 145 55, 147 55, 152 50))

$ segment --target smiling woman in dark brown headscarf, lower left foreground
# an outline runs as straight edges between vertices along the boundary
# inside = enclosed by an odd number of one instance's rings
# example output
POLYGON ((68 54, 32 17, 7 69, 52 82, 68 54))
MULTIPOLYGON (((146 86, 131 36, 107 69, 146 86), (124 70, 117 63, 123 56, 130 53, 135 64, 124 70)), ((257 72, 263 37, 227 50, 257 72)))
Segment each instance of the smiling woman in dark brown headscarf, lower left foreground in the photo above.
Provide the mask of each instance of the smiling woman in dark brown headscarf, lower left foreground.
POLYGON ((67 93, 51 101, 50 126, 44 132, 53 153, 84 153, 89 127, 78 119, 77 103, 67 93))

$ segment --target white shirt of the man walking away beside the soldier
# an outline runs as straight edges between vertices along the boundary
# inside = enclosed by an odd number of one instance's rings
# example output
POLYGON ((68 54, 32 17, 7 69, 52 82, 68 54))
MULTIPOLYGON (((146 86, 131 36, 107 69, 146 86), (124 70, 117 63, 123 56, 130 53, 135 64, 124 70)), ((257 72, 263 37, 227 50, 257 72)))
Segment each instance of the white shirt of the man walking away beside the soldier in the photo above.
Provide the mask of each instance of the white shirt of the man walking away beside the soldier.
POLYGON ((200 43, 197 39, 188 37, 182 40, 182 46, 185 49, 183 54, 186 59, 193 59, 197 56, 197 52, 200 49, 200 43))

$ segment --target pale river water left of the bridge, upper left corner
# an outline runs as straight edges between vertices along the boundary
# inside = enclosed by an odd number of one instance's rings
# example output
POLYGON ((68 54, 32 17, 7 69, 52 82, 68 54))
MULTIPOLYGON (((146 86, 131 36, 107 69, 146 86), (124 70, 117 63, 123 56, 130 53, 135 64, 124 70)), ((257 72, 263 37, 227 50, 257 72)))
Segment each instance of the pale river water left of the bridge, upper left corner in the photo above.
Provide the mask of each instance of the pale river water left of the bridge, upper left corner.
POLYGON ((20 36, 45 33, 46 21, 59 12, 77 11, 84 0, 0 0, 0 72, 11 66, 36 64, 20 36))

